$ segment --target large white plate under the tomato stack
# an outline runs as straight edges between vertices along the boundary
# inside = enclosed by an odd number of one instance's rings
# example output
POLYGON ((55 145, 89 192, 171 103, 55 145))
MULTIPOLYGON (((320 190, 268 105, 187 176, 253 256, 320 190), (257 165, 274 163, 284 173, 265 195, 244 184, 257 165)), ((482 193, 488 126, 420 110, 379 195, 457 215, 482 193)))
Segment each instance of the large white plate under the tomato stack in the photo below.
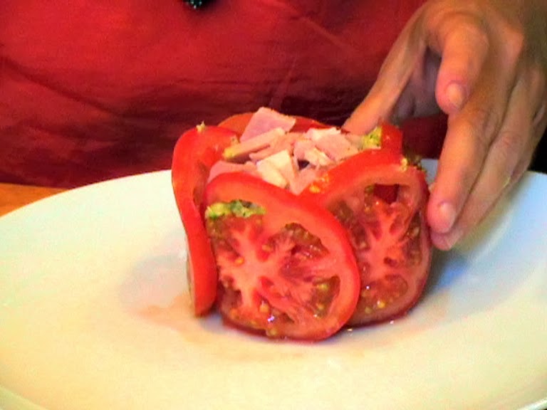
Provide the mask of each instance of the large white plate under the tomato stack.
POLYGON ((0 407, 541 409, 546 198, 526 174, 410 315, 316 344, 192 317, 169 172, 39 201, 0 219, 0 407))

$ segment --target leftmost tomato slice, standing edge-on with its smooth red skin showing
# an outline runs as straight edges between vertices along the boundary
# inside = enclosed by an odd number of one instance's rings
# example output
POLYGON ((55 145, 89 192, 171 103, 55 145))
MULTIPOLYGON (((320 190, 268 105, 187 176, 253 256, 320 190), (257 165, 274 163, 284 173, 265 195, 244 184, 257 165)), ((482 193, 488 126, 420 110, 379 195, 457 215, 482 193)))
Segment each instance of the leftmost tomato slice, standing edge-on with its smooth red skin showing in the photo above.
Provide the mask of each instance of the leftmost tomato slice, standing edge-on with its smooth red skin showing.
POLYGON ((212 165, 236 134, 222 127, 198 125, 184 132, 174 147, 172 185, 187 235, 187 276, 194 313, 204 315, 216 298, 217 270, 202 219, 205 185, 212 165))

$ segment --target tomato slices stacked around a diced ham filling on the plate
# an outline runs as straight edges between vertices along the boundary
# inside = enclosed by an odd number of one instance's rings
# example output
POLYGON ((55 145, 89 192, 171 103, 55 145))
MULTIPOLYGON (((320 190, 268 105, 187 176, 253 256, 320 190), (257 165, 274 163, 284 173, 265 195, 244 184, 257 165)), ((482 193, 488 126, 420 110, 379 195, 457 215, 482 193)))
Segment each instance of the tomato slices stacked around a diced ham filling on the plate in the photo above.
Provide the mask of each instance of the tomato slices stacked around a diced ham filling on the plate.
POLYGON ((428 189, 392 125, 354 135, 262 107, 185 132, 172 183, 198 316, 320 340, 420 298, 428 189))

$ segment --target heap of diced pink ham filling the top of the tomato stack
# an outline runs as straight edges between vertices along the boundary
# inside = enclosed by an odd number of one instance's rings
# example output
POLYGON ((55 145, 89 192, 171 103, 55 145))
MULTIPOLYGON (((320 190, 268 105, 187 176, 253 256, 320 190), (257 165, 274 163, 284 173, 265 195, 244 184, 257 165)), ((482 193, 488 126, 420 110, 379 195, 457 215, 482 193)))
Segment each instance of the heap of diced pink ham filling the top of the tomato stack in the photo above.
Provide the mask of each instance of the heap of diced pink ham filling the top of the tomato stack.
POLYGON ((246 172, 299 194, 330 167, 361 149, 361 136, 336 127, 291 132, 295 124, 296 118, 261 107, 239 142, 224 149, 209 180, 225 172, 246 172))

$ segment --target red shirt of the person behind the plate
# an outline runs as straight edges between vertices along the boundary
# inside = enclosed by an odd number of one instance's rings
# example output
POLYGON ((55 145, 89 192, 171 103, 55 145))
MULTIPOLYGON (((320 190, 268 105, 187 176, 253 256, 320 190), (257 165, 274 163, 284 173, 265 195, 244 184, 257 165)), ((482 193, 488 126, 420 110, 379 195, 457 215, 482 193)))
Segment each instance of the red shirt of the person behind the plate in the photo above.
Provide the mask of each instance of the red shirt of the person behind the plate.
MULTIPOLYGON (((261 105, 340 125, 420 4, 3 0, 0 181, 167 169, 181 132, 261 105)), ((437 154, 444 122, 417 130, 418 150, 437 154)))

